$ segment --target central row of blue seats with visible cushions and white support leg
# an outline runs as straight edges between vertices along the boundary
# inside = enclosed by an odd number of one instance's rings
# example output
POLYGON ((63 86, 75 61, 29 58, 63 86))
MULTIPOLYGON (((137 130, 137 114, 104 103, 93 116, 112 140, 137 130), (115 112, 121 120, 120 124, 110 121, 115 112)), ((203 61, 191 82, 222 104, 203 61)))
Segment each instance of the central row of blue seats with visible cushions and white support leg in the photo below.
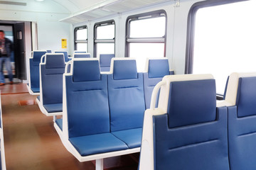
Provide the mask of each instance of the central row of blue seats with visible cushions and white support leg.
MULTIPOLYGON (((168 60, 156 61, 166 64, 154 76, 170 74, 168 60)), ((63 119, 54 123, 66 149, 80 162, 96 159, 97 169, 106 157, 139 152, 146 105, 136 60, 113 58, 109 74, 100 73, 97 59, 70 64, 70 72, 63 74, 63 119)))

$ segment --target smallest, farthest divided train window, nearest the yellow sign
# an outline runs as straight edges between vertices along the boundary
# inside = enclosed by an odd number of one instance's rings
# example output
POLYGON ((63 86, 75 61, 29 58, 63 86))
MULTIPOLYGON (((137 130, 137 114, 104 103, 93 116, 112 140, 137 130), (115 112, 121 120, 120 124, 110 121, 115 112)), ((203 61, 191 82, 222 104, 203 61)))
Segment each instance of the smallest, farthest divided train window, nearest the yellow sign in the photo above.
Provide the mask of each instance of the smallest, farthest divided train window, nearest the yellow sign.
POLYGON ((87 52, 87 26, 75 28, 75 50, 87 52))

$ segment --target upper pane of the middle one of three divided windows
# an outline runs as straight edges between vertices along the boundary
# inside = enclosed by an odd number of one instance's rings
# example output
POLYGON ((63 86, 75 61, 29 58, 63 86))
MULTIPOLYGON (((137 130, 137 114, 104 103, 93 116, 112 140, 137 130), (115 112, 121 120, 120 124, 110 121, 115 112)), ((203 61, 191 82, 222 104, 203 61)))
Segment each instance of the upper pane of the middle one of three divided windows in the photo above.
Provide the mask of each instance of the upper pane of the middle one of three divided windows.
POLYGON ((113 39, 114 24, 97 27, 97 39, 113 39))

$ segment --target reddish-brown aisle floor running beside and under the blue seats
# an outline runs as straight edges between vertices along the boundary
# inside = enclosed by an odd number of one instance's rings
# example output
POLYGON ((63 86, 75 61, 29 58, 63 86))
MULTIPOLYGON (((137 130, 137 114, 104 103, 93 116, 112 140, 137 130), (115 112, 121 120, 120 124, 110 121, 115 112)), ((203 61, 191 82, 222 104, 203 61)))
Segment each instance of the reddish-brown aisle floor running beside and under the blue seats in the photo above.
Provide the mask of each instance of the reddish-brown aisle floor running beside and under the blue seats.
MULTIPOLYGON (((6 169, 95 169, 79 162, 60 141, 53 118, 41 113, 26 84, 0 86, 6 169)), ((139 153, 104 159, 105 169, 135 170, 139 153)))

